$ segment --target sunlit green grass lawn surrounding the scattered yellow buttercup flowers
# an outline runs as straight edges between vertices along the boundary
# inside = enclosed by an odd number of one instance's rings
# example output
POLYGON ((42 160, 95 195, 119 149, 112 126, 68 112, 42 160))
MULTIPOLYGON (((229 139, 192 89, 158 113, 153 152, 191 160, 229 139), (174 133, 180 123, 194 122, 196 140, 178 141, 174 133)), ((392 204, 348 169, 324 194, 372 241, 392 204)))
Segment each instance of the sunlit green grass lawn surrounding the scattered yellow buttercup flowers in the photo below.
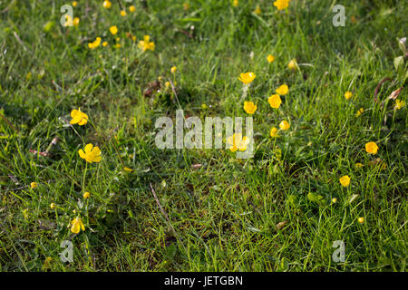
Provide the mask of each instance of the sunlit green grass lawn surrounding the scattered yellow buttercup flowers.
POLYGON ((393 65, 406 2, 292 0, 287 12, 273 1, 185 2, 187 11, 183 1, 148 0, 147 10, 135 1, 136 12, 121 17, 117 1, 107 10, 80 0, 80 24, 66 28, 61 1, 0 1, 0 270, 44 271, 52 257, 53 271, 406 271, 407 108, 388 100, 407 85, 406 59, 393 65), (335 4, 345 5, 345 27, 332 24, 335 4), (145 34, 154 52, 139 50, 145 34), (110 44, 90 50, 97 36, 110 44), (155 121, 178 108, 201 120, 247 116, 238 81, 246 72, 257 74, 246 99, 257 103, 253 159, 156 147, 155 121), (143 96, 159 76, 160 92, 143 96), (374 102, 385 77, 392 82, 374 102), (282 83, 290 91, 275 110, 267 97, 282 83), (70 126, 78 107, 90 120, 70 126), (272 139, 282 120, 290 129, 272 139), (379 146, 374 156, 369 141, 379 146), (91 142, 101 163, 77 153, 91 142), (49 146, 49 157, 30 152, 49 146), (75 217, 86 227, 78 235, 68 227, 75 217), (73 242, 73 263, 60 261, 63 240, 73 242), (335 240, 345 242, 345 263, 332 259, 335 240))

